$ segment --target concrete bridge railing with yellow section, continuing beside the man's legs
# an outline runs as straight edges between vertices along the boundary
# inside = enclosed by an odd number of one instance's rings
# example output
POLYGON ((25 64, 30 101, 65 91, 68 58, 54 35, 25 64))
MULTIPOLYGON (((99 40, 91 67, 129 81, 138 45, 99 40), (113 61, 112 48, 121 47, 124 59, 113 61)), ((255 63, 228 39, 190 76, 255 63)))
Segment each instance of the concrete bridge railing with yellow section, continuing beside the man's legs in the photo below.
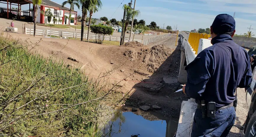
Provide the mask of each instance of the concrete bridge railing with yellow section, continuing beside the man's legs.
MULTIPOLYGON (((203 49, 212 46, 210 40, 206 39, 206 37, 201 38, 202 36, 204 35, 190 33, 188 38, 190 44, 187 39, 180 35, 182 47, 179 82, 187 82, 187 72, 185 70, 187 64, 192 62, 203 49)), ((194 99, 191 98, 188 101, 182 101, 176 137, 190 137, 196 108, 197 104, 194 99)))

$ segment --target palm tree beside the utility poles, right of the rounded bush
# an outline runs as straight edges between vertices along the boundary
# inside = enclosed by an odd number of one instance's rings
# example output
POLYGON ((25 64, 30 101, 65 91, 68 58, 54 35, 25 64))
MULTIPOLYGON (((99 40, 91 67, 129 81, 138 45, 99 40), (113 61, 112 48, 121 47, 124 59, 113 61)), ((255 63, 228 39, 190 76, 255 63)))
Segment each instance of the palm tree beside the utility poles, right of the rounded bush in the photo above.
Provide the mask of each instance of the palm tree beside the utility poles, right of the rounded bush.
MULTIPOLYGON (((122 39, 122 44, 124 44, 124 39, 125 39, 125 32, 127 31, 128 24, 132 18, 136 18, 140 16, 140 11, 131 9, 128 5, 124 4, 123 9, 125 10, 125 27, 124 27, 124 32, 123 33, 123 39, 122 39)), ((132 33, 132 32, 131 32, 132 33)))

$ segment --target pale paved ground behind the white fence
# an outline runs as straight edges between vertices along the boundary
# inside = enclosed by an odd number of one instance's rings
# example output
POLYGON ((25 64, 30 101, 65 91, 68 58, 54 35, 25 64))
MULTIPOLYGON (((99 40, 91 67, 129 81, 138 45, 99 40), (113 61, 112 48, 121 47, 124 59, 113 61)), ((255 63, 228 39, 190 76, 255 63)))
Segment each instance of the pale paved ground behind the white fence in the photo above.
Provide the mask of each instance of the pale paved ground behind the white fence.
MULTIPOLYGON (((2 27, 9 27, 9 24, 7 23, 10 23, 12 22, 11 19, 5 19, 5 18, 0 18, 0 29, 2 27)), ((28 29, 34 29, 34 24, 28 24, 27 22, 22 22, 22 21, 14 21, 14 27, 18 28, 18 33, 22 34, 22 25, 24 27, 24 23, 25 23, 25 26, 26 28, 28 29)), ((46 29, 50 30, 50 27, 46 27, 46 26, 40 26, 40 25, 37 25, 36 26, 36 29, 44 29, 46 31, 46 29)), ((2 29, 4 30, 4 28, 2 29)), ((72 29, 59 29, 59 28, 52 28, 53 31, 59 31, 59 34, 61 32, 71 32, 71 33, 74 33, 75 30, 72 30, 72 29)), ((81 33, 81 30, 80 29, 77 29, 76 33, 81 33)), ((84 31, 85 34, 88 33, 87 30, 84 31)), ((167 33, 161 33, 161 34, 167 34, 167 33)), ((94 35, 93 33, 90 33, 90 35, 94 35)), ((133 38, 133 35, 132 34, 132 38, 133 38)), ((112 37, 118 37, 120 38, 121 36, 121 33, 120 32, 114 32, 113 35, 111 35, 112 37)), ((126 38, 129 38, 130 34, 126 33, 125 37, 126 38)), ((146 35, 138 35, 138 34, 135 34, 135 37, 134 39, 138 39, 138 40, 141 40, 142 39, 142 36, 143 36, 143 39, 149 39, 149 38, 152 38, 152 37, 155 37, 156 35, 152 35, 152 36, 146 36, 146 35)))

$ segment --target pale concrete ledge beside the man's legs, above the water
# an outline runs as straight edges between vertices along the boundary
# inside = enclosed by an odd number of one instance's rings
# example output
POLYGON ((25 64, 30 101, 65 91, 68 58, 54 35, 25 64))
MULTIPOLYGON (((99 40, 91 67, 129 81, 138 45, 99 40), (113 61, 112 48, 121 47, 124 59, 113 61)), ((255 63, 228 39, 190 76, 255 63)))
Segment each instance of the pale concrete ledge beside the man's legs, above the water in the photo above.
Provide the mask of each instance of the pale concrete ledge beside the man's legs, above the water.
POLYGON ((182 101, 176 137, 190 137, 196 108, 194 99, 182 101))

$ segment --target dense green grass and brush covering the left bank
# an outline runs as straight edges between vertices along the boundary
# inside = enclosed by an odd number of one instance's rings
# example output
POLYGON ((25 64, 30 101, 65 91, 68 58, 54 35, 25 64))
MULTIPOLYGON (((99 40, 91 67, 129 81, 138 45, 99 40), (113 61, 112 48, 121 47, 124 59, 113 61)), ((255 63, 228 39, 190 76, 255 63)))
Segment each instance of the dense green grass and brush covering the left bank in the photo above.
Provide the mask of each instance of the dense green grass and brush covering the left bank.
POLYGON ((109 112, 106 104, 116 104, 122 95, 99 86, 100 77, 90 79, 79 66, 67 67, 63 60, 27 50, 35 46, 0 36, 1 134, 101 136, 98 123, 109 112))

